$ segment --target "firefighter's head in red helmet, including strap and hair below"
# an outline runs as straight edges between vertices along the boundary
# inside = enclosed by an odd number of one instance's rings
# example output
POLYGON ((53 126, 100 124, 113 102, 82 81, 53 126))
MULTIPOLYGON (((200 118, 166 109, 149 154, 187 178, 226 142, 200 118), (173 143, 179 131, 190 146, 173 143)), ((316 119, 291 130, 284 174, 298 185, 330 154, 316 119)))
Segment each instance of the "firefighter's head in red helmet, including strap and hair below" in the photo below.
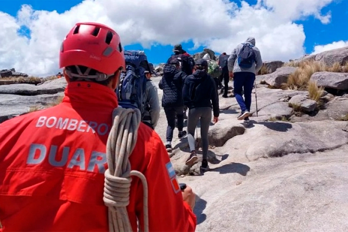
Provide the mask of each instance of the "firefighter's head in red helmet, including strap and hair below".
POLYGON ((93 81, 112 89, 126 66, 119 35, 98 23, 77 23, 62 42, 59 58, 68 82, 93 81))

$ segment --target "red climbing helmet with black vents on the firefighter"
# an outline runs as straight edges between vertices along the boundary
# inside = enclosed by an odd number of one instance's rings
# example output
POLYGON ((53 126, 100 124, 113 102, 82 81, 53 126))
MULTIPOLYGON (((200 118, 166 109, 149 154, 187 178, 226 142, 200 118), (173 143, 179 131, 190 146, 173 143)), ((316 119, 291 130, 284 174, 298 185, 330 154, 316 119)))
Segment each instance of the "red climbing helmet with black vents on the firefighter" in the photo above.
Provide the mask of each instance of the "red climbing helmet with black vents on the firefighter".
POLYGON ((119 35, 99 23, 77 23, 62 42, 59 66, 83 65, 111 75, 120 67, 125 69, 125 58, 119 35))

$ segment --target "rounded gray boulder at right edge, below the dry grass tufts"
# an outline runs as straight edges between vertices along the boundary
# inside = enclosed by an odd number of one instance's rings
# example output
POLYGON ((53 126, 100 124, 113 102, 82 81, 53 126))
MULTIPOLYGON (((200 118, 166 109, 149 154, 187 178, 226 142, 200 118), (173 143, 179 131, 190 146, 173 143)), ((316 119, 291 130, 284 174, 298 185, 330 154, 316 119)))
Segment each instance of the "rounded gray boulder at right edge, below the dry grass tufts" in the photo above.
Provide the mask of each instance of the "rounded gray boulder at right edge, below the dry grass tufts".
POLYGON ((310 77, 318 86, 338 90, 348 89, 348 73, 339 72, 316 72, 310 77))

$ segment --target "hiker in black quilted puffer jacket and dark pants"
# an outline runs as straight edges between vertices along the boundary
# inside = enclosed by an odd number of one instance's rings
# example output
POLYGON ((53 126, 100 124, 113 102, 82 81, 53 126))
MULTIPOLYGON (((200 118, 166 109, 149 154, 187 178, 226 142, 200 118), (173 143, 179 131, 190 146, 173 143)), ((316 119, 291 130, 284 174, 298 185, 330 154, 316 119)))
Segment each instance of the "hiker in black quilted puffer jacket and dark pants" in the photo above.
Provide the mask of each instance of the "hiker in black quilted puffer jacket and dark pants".
POLYGON ((165 143, 168 152, 172 151, 172 139, 175 129, 175 114, 177 117, 177 129, 179 130, 179 139, 187 133, 183 131, 184 127, 184 103, 182 99, 182 87, 187 75, 179 71, 180 63, 177 59, 172 59, 163 69, 163 77, 158 87, 163 89, 162 106, 166 113, 168 122, 167 141, 165 143))

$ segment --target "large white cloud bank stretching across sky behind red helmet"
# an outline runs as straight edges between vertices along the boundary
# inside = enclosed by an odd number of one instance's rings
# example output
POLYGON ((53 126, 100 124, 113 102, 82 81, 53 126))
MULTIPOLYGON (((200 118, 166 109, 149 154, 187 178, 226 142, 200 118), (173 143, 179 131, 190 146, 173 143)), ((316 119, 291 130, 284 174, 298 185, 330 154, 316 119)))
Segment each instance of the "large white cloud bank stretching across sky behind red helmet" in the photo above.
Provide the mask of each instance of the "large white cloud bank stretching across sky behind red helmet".
POLYGON ((62 14, 23 5, 14 18, 0 12, 0 69, 45 76, 58 71, 58 51, 76 22, 94 21, 113 27, 123 45, 174 45, 192 39, 217 52, 228 53, 248 36, 264 60, 296 58, 304 53, 305 34, 297 19, 313 15, 329 23, 321 9, 333 0, 259 0, 255 6, 228 0, 85 0, 62 14), (16 32, 27 26, 31 38, 16 32))

